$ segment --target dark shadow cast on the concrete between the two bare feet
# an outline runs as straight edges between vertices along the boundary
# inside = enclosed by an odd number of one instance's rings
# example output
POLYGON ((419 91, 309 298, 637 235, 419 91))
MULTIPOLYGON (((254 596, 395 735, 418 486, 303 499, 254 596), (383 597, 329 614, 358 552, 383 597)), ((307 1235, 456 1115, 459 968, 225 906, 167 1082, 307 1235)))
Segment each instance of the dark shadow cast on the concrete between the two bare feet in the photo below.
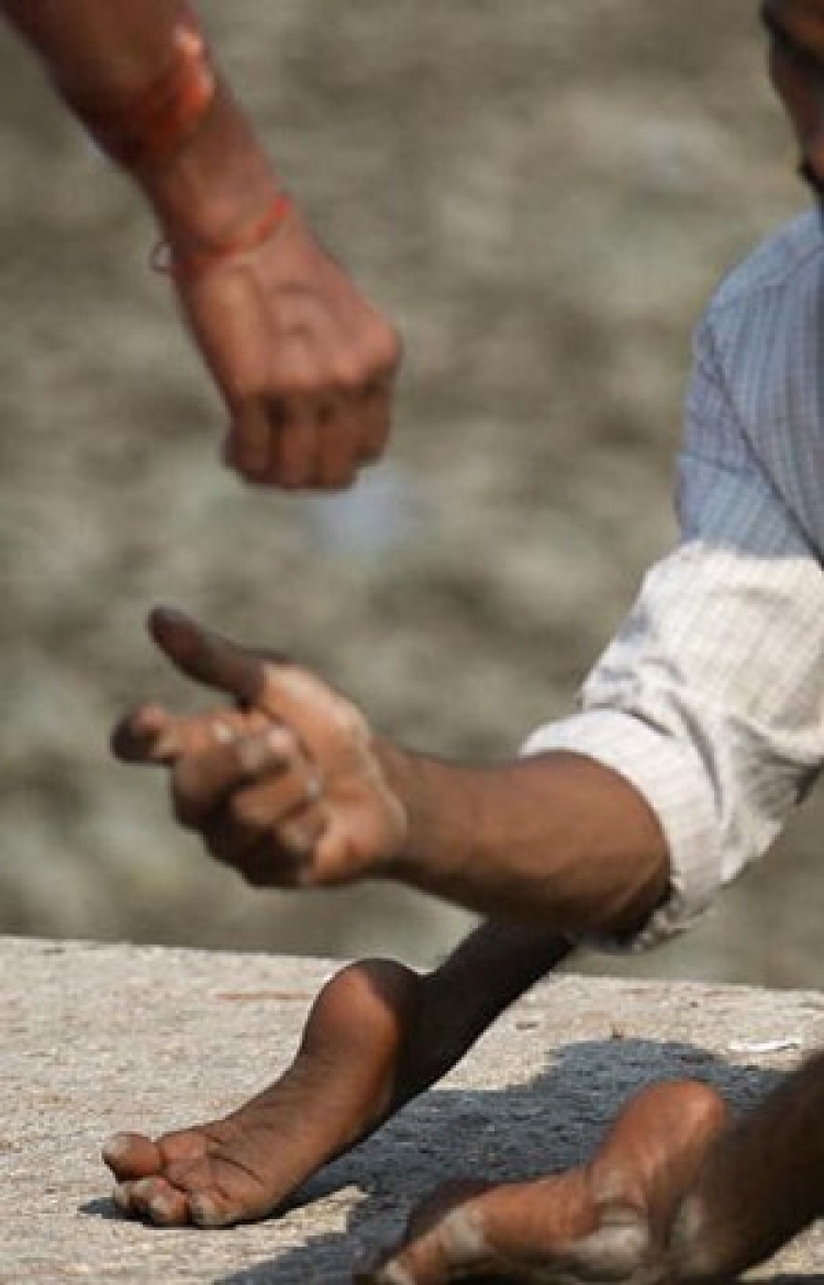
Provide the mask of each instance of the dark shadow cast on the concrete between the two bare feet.
MULTIPOLYGON (((410 1103, 372 1139, 306 1182, 279 1217, 296 1219, 307 1244, 219 1279, 216 1285, 333 1285, 400 1237, 406 1216, 449 1178, 524 1180, 585 1159, 622 1103, 644 1085, 690 1077, 740 1110, 782 1078, 730 1065, 694 1045, 650 1040, 584 1041, 558 1050, 531 1083, 506 1090, 434 1090, 410 1103), (311 1205, 343 1189, 363 1194, 345 1232, 312 1236, 311 1205)), ((773 1285, 824 1282, 776 1276, 773 1285)))

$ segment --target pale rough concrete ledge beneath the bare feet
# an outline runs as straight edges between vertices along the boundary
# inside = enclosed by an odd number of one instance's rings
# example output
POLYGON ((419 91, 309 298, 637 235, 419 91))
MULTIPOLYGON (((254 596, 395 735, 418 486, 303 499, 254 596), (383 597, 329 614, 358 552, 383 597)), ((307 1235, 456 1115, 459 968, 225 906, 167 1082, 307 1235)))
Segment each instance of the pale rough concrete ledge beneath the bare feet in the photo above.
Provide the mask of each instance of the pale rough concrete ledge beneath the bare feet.
MULTIPOLYGON (((220 1232, 114 1217, 100 1140, 222 1113, 261 1087, 337 968, 0 939, 0 1281, 342 1285, 445 1177, 571 1164, 629 1092, 661 1076, 710 1079, 743 1105, 824 1043, 815 992, 558 977, 283 1217, 220 1232)), ((824 1282, 824 1230, 758 1279, 824 1282)))

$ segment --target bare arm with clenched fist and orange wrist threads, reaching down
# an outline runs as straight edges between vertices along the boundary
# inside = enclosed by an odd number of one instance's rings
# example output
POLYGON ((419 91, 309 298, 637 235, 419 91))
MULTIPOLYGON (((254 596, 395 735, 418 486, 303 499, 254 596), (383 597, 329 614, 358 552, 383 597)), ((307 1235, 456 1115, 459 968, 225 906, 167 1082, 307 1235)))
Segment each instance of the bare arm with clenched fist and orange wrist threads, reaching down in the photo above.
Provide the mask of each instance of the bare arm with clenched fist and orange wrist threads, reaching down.
POLYGON ((383 450, 399 342, 318 244, 177 0, 3 0, 149 198, 247 479, 337 487, 383 450))

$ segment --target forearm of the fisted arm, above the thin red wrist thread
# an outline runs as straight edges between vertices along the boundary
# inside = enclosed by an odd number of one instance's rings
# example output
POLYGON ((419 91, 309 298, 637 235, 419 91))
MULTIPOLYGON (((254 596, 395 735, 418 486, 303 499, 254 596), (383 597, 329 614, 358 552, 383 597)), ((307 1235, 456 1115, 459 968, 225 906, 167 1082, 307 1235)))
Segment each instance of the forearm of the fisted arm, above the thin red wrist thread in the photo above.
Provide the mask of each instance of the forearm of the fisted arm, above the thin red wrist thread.
MULTIPOLYGON (((179 0, 0 0, 40 54, 71 111, 111 150, 103 123, 129 121, 175 58, 179 0)), ((243 113, 207 58, 202 109, 159 154, 114 157, 154 206, 175 244, 220 243, 260 216, 275 177, 243 113)), ((174 114, 174 113, 172 113, 174 114)))

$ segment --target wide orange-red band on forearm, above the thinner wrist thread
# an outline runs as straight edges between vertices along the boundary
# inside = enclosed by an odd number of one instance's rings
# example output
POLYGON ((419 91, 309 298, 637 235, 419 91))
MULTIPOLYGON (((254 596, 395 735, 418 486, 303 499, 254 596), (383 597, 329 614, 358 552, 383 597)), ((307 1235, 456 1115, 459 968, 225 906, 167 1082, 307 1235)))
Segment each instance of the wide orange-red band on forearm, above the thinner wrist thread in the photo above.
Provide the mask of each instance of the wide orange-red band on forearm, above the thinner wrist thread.
POLYGON ((174 28, 170 63, 141 94, 118 107, 66 96, 113 161, 140 170, 162 164, 194 134, 215 87, 203 32, 184 9, 174 28))

